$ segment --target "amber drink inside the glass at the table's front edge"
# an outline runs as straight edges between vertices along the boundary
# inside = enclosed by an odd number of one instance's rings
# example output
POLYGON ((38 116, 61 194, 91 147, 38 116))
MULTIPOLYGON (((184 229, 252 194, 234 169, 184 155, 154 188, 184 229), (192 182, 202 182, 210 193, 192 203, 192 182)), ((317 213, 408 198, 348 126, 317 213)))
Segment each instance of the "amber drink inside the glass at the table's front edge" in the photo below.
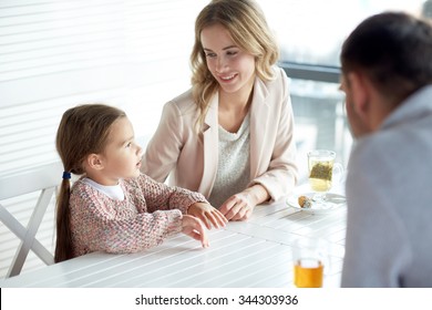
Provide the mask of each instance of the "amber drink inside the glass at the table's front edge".
POLYGON ((298 288, 322 287, 323 265, 317 259, 304 258, 294 266, 294 283, 298 288))

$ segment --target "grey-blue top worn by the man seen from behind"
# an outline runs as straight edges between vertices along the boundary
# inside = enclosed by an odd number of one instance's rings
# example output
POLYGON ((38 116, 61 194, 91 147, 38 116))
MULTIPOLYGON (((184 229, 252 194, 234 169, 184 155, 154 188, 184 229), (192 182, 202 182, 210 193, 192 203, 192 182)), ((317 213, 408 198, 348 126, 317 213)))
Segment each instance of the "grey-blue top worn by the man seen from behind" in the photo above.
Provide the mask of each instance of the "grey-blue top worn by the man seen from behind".
POLYGON ((431 161, 426 86, 352 151, 342 287, 432 287, 431 161))

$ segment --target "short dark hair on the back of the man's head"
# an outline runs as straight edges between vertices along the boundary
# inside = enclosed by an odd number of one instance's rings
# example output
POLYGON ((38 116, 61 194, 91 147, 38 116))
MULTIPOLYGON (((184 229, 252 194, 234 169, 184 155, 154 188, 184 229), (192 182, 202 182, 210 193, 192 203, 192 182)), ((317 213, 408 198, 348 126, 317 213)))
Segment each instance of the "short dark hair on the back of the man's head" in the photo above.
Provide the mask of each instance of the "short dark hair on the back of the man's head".
POLYGON ((432 83, 432 27, 402 12, 362 21, 341 51, 342 72, 366 74, 393 104, 432 83))

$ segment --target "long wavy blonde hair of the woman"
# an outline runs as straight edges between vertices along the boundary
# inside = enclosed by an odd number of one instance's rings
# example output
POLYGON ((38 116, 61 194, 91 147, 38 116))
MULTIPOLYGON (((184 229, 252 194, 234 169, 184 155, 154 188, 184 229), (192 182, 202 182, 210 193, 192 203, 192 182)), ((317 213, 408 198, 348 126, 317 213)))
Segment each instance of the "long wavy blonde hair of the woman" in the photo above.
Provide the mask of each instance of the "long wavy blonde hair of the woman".
POLYGON ((195 21, 195 44, 191 54, 192 92, 199 116, 197 128, 203 125, 209 100, 218 83, 209 72, 200 41, 203 29, 222 24, 234 42, 255 56, 256 74, 264 81, 271 80, 274 65, 279 59, 279 46, 269 30, 266 18, 253 0, 213 0, 195 21))

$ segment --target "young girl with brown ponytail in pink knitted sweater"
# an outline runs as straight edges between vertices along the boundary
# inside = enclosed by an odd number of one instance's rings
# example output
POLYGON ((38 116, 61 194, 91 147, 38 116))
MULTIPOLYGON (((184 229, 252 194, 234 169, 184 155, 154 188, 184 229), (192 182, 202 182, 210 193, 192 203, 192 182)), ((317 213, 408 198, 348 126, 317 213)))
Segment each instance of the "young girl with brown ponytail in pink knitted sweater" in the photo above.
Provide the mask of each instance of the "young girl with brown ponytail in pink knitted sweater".
POLYGON ((140 251, 179 231, 207 247, 199 218, 207 228, 226 223, 202 194, 140 173, 142 148, 123 111, 102 104, 68 110, 56 149, 64 166, 56 202, 56 262, 92 251, 140 251), (71 173, 82 175, 72 188, 71 173))

